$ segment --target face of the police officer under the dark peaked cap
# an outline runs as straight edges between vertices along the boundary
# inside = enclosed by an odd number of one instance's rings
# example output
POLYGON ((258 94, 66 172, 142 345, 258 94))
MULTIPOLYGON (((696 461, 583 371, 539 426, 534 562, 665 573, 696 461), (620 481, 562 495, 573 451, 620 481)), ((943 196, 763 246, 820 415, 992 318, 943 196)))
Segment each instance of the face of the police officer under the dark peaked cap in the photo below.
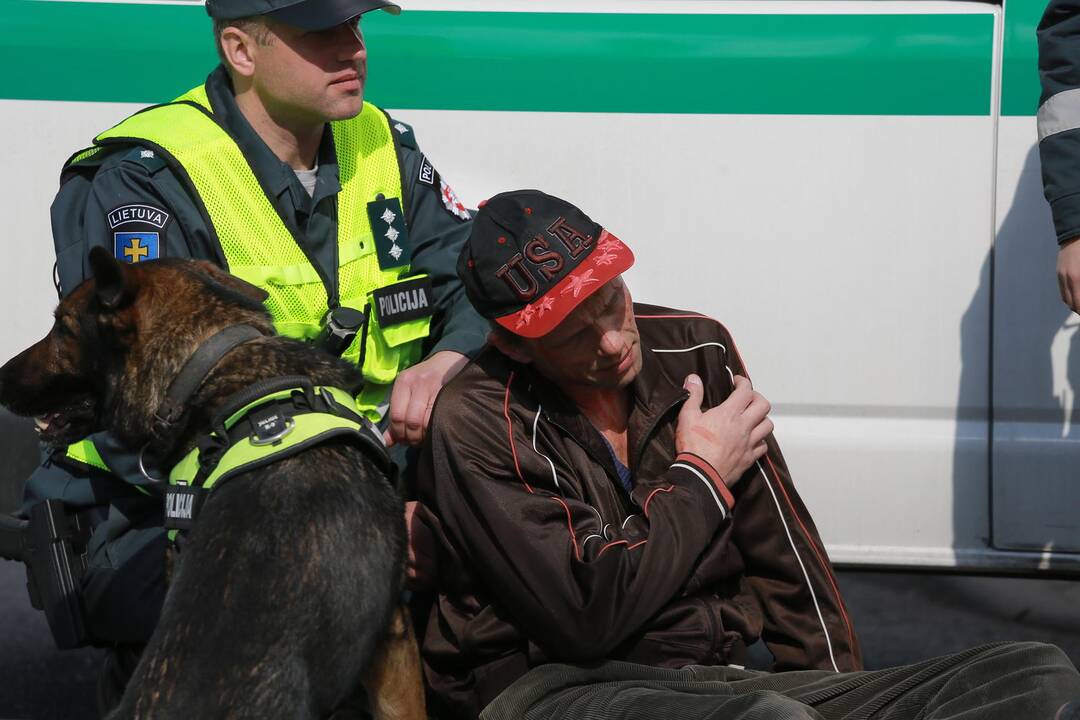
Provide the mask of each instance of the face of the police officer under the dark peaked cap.
POLYGON ((354 118, 364 106, 367 50, 360 18, 308 31, 268 22, 252 80, 269 114, 280 121, 324 123, 354 118))

